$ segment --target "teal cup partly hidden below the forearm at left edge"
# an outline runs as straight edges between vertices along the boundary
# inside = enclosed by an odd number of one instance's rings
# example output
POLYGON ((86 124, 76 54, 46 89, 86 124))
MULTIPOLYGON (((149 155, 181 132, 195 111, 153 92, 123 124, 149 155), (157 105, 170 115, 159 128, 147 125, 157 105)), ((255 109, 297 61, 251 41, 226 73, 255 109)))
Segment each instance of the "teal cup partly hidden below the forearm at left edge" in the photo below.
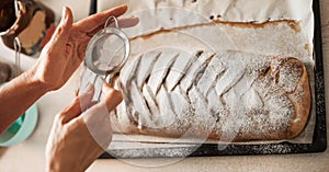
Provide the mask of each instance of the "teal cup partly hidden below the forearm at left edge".
POLYGON ((5 131, 0 135, 0 147, 24 141, 34 131, 38 118, 37 106, 33 104, 5 131))

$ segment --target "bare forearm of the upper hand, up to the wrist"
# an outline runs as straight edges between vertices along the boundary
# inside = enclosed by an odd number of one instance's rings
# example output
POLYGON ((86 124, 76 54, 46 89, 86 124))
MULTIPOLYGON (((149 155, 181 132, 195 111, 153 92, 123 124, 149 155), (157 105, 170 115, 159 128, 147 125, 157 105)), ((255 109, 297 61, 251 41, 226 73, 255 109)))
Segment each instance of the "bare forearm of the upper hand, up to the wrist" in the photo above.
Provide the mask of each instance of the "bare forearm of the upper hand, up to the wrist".
POLYGON ((48 91, 34 72, 31 69, 0 88, 0 133, 48 91))

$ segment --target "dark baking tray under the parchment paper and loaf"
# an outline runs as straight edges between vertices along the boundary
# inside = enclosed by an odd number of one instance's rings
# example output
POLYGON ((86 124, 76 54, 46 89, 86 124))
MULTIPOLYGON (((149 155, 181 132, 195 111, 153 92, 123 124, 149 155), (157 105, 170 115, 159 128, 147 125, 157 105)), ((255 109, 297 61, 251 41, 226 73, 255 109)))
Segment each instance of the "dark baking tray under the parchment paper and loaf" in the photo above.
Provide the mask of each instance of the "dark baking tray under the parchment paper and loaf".
POLYGON ((174 148, 143 148, 111 150, 104 152, 100 159, 110 158, 183 158, 183 157, 216 157, 216 156, 252 156, 252 154, 291 154, 291 153, 315 153, 327 149, 326 130, 326 103, 325 103, 325 74, 322 57, 322 38, 320 21, 320 2, 313 1, 315 14, 314 32, 314 56, 315 56, 315 102, 316 124, 311 144, 292 144, 283 141, 279 144, 261 145, 228 145, 219 150, 217 144, 203 144, 197 147, 174 147, 174 148), (123 152, 124 151, 124 152, 123 152), (193 151, 192 153, 181 153, 193 151), (114 156, 112 156, 114 154, 114 156))

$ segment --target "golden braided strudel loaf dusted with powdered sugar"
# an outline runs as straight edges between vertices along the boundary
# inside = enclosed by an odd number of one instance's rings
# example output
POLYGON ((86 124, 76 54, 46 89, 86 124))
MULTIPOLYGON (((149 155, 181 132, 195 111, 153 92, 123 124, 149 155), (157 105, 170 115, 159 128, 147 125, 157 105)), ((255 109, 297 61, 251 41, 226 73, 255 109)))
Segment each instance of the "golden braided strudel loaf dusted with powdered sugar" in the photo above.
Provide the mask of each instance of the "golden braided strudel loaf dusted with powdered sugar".
POLYGON ((129 61, 115 85, 125 98, 112 125, 123 134, 288 139, 310 111, 307 71, 294 57, 154 50, 129 61))

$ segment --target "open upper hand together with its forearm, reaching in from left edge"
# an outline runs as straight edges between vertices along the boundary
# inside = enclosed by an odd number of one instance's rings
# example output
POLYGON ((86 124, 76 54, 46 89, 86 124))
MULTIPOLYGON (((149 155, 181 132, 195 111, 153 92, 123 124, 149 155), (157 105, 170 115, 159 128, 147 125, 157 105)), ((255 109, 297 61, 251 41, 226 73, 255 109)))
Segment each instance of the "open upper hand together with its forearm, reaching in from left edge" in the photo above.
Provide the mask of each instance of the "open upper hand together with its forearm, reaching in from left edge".
MULTIPOLYGON (((36 65, 0 88, 0 134, 41 96, 61 88, 83 60, 90 38, 104 27, 109 16, 120 16, 126 10, 122 5, 72 23, 71 10, 64 8, 61 22, 36 65)), ((129 27, 138 19, 121 19, 118 23, 129 27)))

